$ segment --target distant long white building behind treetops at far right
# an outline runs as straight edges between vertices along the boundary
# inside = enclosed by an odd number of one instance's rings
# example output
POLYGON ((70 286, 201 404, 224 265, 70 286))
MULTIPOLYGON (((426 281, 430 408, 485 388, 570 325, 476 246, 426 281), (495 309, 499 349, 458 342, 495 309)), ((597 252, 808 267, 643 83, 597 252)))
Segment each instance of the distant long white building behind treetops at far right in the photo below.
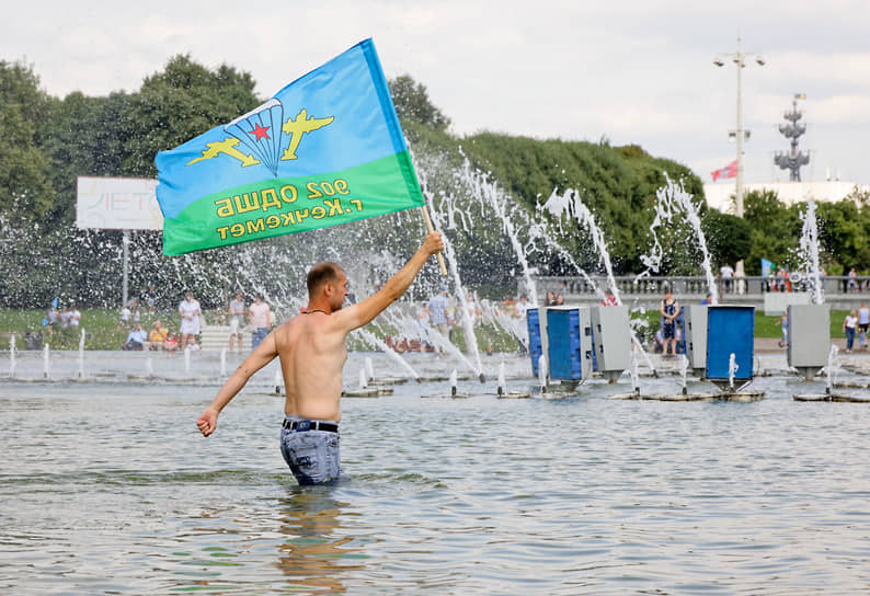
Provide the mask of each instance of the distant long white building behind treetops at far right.
MULTIPOLYGON (((812 198, 816 203, 836 203, 858 186, 859 191, 870 192, 870 184, 855 184, 854 182, 824 181, 824 182, 759 182, 743 185, 743 196, 753 191, 774 191, 779 200, 786 205, 803 203, 812 198)), ((722 213, 734 213, 734 184, 705 184, 703 195, 707 205, 722 213)))

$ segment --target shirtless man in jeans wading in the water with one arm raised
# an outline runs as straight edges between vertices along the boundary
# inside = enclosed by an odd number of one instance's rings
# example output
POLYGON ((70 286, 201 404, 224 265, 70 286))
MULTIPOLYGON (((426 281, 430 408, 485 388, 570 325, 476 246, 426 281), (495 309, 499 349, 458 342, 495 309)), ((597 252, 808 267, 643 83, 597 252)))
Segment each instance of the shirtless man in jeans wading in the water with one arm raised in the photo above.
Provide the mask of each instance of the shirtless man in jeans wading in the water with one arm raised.
POLYGON ((300 484, 336 480, 342 417, 339 402, 342 368, 347 359, 344 340, 404 294, 426 260, 443 249, 440 233, 430 233, 414 256, 381 289, 347 308, 342 308, 348 294, 344 271, 335 263, 311 267, 305 312, 270 333, 227 379, 196 421, 203 436, 215 432, 218 414, 248 379, 278 356, 287 392, 281 432, 284 460, 300 484))

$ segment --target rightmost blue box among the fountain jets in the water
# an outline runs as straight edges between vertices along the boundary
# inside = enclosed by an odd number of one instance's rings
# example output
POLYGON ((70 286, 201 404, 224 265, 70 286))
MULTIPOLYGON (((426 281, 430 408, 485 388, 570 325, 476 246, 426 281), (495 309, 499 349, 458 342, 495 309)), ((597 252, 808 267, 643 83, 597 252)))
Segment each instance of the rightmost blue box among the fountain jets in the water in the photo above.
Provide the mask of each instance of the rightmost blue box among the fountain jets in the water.
POLYGON ((708 307, 706 377, 710 380, 728 380, 732 354, 737 365, 734 379, 752 380, 755 307, 708 307))

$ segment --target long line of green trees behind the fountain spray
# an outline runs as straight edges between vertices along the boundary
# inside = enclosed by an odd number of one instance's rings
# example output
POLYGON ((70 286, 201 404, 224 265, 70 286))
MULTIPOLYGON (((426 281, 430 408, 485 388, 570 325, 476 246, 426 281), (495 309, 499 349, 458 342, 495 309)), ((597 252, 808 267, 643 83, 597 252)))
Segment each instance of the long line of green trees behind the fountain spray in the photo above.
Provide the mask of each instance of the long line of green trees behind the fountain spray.
MULTIPOLYGON (((538 140, 495 133, 457 137, 450 121, 430 100, 426 88, 410 76, 389 81, 411 145, 421 183, 444 213, 463 279, 482 296, 513 294, 519 274, 517 257, 491 197, 481 195, 481 181, 497 182, 499 200, 516 226, 518 241, 533 254, 541 274, 575 274, 575 261, 599 273, 599 255, 588 230, 561 221, 561 231, 539 206, 554 191, 575 190, 604 231, 615 273, 631 274, 650 252, 650 224, 656 191, 666 176, 679 181, 695 196, 702 215, 713 261, 746 260, 749 274, 760 259, 797 266, 802 206, 787 207, 775 194, 749 193, 745 220, 707 213, 700 179, 686 167, 650 156, 637 145, 614 147, 606 136, 598 142, 538 140), (455 217, 453 217, 455 216, 455 217), (564 251, 541 247, 533 224, 542 221, 564 251)), ((247 72, 224 65, 215 69, 190 56, 175 56, 163 70, 147 77, 139 90, 89 98, 70 93, 48 96, 30 66, 0 61, 0 300, 7 305, 46 305, 53 298, 81 305, 117 303, 121 287, 122 233, 84 231, 73 227, 76 177, 156 175, 153 158, 210 128, 256 107, 254 81, 247 72)), ((485 194, 485 193, 483 193, 485 194)), ((870 193, 856 188, 847 199, 819 205, 823 263, 828 273, 849 266, 870 273, 870 193)), ((286 279, 304 276, 306 263, 329 256, 350 241, 389 247, 384 255, 351 256, 351 263, 371 287, 382 283, 423 234, 420 214, 407 211, 256 243, 256 248, 216 249, 182 257, 161 254, 160 234, 136 232, 130 245, 130 294, 154 282, 167 305, 174 306, 183 289, 192 289, 204 307, 221 305, 233 288, 281 295, 289 302, 286 279), (295 259, 287 255, 293 254, 295 259)), ((662 232, 667 252, 663 274, 697 274, 697 243, 683 224, 662 232)), ((348 265, 350 266, 350 265, 348 265)), ((424 273, 435 275, 434 273, 424 273)), ((421 284, 431 285, 433 279, 421 284)), ((360 288, 362 289, 362 288, 360 288)), ((423 290, 425 291, 425 290, 423 290)))

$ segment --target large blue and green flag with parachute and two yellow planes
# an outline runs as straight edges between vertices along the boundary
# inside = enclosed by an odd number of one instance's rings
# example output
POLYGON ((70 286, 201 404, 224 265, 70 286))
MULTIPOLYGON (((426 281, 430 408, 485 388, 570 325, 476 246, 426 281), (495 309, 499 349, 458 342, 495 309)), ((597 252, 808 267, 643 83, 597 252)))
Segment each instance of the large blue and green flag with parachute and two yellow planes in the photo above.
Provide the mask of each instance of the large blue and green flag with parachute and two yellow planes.
POLYGON ((170 255, 424 205, 371 39, 154 163, 170 255))

